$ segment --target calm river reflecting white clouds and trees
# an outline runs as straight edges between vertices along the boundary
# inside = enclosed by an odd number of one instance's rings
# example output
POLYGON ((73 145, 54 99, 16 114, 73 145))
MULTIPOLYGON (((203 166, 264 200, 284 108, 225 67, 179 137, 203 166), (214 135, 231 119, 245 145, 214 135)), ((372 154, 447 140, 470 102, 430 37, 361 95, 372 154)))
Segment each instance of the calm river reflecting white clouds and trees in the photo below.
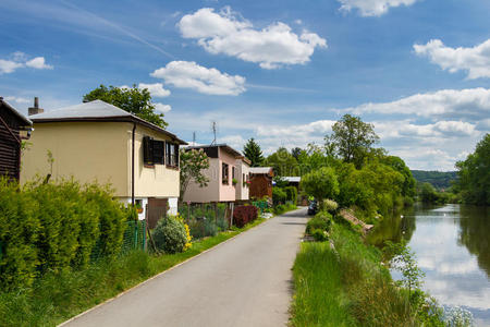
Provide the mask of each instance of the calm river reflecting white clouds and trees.
POLYGON ((416 204, 384 219, 368 240, 380 245, 402 238, 426 274, 422 289, 442 305, 470 311, 478 326, 490 326, 490 208, 416 204))

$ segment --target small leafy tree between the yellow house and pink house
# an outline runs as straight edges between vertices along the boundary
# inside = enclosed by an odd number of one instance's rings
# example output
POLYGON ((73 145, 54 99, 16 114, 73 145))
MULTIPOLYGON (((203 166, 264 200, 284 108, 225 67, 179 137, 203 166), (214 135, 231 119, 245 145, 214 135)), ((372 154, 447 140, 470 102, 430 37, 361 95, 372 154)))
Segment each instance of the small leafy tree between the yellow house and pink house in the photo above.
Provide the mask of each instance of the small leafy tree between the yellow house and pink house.
POLYGON ((179 157, 181 170, 180 198, 183 199, 191 182, 196 183, 199 187, 208 185, 209 179, 203 173, 203 170, 209 168, 209 158, 203 149, 181 149, 179 157))

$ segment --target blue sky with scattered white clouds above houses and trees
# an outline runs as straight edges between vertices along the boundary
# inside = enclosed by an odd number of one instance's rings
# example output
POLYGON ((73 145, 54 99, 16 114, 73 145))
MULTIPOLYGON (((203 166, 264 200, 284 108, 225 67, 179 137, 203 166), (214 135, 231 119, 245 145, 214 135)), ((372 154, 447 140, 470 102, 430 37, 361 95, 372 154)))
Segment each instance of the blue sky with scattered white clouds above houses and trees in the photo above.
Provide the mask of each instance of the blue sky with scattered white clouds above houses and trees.
POLYGON ((452 170, 490 130, 483 0, 0 2, 0 95, 26 112, 100 84, 149 87, 169 130, 266 154, 344 113, 413 169, 452 170))

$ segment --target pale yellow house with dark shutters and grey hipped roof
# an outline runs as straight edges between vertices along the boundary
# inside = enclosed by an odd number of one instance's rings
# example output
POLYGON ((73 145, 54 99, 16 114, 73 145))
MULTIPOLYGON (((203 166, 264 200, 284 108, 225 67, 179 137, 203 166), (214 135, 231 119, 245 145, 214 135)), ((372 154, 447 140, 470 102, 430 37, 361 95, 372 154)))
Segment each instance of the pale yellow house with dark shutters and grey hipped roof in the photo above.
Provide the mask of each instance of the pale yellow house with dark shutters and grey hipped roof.
POLYGON ((23 182, 50 174, 111 183, 122 202, 143 208, 140 218, 148 204, 150 225, 164 210, 176 213, 179 146, 186 143, 174 134, 101 100, 29 119, 34 132, 23 155, 23 182))

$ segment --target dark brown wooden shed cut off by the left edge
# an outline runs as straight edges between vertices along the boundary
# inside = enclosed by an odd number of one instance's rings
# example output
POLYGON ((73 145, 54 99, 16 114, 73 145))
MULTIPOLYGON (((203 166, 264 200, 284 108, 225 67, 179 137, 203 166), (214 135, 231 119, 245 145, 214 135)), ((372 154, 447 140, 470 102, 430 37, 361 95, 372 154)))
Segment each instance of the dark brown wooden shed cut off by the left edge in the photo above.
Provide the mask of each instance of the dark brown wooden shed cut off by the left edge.
POLYGON ((21 131, 33 123, 0 97, 0 175, 17 180, 21 175, 21 131))

